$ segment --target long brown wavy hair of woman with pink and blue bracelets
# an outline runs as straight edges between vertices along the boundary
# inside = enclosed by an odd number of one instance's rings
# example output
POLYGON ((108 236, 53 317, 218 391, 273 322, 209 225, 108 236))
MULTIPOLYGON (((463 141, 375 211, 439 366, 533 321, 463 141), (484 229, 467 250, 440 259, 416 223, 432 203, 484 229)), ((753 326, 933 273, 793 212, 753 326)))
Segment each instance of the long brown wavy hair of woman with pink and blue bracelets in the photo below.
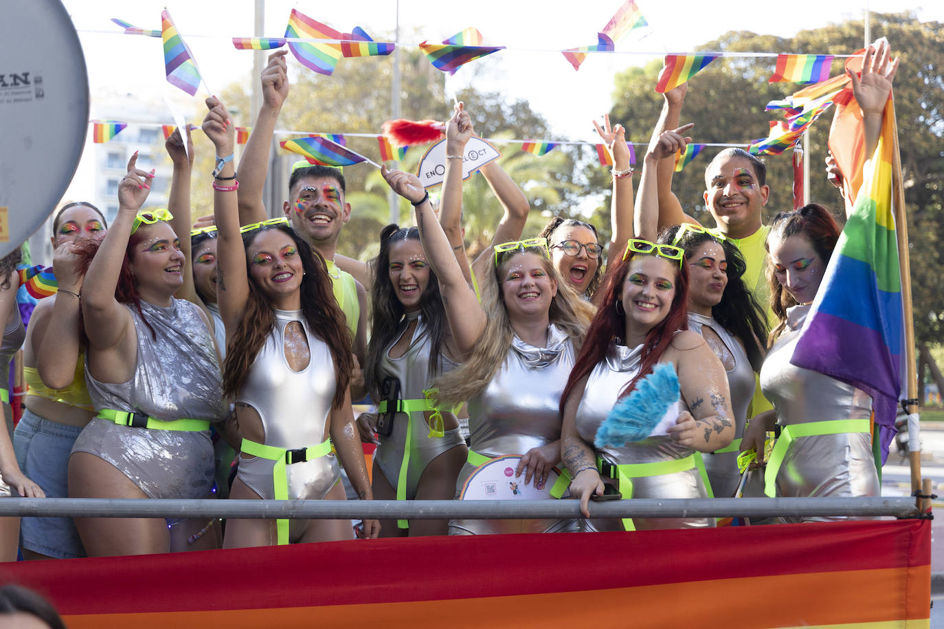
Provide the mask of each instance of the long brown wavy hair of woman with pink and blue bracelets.
MULTIPOLYGON (((244 247, 248 248, 263 231, 278 229, 295 242, 298 257, 301 259, 304 275, 301 280, 301 311, 308 323, 308 328, 318 339, 323 340, 334 362, 337 386, 334 389, 333 406, 340 408, 345 401, 345 392, 350 384, 354 359, 351 354, 351 334, 347 328, 345 314, 334 299, 331 279, 324 258, 312 250, 312 247, 298 238, 287 225, 267 225, 243 235, 244 247)), ((249 370, 256 356, 259 355, 265 339, 272 333, 276 314, 272 303, 262 292, 249 273, 249 257, 246 256, 246 275, 249 281, 249 296, 245 312, 239 327, 227 346, 227 357, 223 364, 223 394, 235 398, 243 388, 249 370)), ((287 391, 286 395, 291 395, 287 391)))

